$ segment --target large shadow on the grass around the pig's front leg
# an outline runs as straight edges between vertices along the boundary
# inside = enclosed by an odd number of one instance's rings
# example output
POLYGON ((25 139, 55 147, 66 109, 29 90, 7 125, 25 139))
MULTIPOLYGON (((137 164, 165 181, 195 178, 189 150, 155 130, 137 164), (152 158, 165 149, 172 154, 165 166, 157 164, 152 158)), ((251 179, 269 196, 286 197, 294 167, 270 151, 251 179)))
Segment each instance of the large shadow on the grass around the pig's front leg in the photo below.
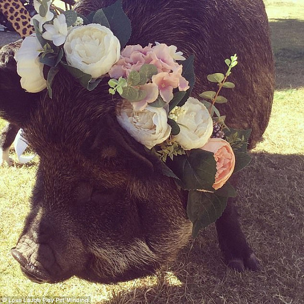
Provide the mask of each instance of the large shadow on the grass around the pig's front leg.
POLYGON ((240 221, 260 260, 260 271, 240 274, 227 269, 210 225, 169 268, 179 283, 172 283, 163 271, 155 286, 122 287, 106 303, 302 303, 303 169, 303 155, 259 153, 242 171, 240 221))

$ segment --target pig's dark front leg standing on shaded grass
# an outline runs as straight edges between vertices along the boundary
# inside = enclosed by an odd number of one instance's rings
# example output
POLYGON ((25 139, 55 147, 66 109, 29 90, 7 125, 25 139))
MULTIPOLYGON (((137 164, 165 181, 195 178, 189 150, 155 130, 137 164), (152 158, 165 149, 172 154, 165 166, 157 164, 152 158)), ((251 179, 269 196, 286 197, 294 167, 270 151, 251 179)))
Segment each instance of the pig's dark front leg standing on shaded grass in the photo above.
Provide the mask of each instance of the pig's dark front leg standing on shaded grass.
POLYGON ((228 199, 226 209, 215 222, 219 246, 229 267, 240 272, 245 268, 256 271, 259 263, 241 230, 234 200, 228 199))

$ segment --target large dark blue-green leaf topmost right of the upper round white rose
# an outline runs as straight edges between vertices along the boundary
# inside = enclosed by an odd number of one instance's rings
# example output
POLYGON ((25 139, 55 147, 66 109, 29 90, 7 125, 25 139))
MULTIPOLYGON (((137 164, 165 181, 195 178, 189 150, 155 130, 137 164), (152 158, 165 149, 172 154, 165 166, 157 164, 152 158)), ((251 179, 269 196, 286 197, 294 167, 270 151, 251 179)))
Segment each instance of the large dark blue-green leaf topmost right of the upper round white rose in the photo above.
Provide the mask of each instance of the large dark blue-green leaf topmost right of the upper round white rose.
POLYGON ((102 10, 108 20, 111 31, 118 38, 123 49, 130 39, 132 30, 131 22, 122 8, 121 0, 102 10))

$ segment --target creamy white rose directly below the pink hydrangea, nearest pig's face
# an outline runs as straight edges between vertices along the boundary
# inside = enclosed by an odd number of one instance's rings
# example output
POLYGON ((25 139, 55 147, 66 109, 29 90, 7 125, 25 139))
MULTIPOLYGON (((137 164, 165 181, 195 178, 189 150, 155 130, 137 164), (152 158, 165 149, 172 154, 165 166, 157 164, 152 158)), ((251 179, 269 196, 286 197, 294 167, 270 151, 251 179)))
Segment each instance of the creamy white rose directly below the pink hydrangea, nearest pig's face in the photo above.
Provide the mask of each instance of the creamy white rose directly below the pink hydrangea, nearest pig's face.
POLYGON ((165 141, 171 132, 164 108, 148 105, 142 111, 134 111, 132 104, 124 101, 118 108, 117 120, 132 137, 148 149, 165 141))

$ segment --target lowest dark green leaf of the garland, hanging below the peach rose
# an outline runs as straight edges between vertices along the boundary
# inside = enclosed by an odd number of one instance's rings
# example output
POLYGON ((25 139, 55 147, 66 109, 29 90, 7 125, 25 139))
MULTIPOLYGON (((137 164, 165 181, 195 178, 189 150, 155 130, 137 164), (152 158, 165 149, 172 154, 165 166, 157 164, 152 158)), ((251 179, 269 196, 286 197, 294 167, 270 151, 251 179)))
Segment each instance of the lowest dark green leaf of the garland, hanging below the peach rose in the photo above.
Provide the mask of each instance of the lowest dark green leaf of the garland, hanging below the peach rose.
POLYGON ((200 231, 215 222, 223 213, 227 205, 227 197, 216 194, 189 191, 187 215, 193 222, 192 236, 196 237, 200 231))

